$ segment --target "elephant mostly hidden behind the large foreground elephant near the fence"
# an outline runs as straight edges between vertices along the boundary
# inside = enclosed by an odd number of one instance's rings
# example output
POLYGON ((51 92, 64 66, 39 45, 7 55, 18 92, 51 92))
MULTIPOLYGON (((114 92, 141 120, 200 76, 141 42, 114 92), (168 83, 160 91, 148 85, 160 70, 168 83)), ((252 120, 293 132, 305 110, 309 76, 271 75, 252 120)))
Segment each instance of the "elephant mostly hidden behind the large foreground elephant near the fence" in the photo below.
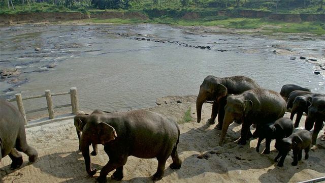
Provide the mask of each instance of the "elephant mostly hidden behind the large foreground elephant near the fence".
MULTIPOLYGON (((108 111, 101 111, 101 110, 95 110, 93 111, 98 114, 106 114, 106 113, 112 113, 108 111)), ((89 114, 80 112, 74 117, 74 125, 76 127, 76 132, 78 135, 78 140, 80 141, 80 134, 82 132, 82 129, 85 127, 87 124, 87 119, 89 117, 89 114)), ((97 144, 92 144, 92 149, 93 151, 90 153, 92 156, 96 156, 98 154, 98 148, 97 144)), ((80 150, 80 145, 79 145, 79 150, 80 150)))

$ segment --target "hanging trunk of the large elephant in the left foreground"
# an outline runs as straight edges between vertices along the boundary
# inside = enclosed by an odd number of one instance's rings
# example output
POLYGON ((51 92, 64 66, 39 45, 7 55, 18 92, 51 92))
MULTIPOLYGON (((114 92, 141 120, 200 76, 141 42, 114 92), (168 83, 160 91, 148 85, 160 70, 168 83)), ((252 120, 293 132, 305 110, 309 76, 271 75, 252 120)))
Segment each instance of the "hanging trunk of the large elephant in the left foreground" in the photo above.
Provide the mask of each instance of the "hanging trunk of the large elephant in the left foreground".
POLYGON ((91 142, 89 142, 87 140, 87 137, 85 137, 84 133, 82 133, 81 137, 80 137, 79 146, 81 149, 82 156, 85 160, 86 171, 89 176, 92 176, 97 172, 97 170, 96 170, 96 168, 91 169, 91 159, 90 159, 90 153, 89 153, 89 145, 90 144, 91 144, 91 142))

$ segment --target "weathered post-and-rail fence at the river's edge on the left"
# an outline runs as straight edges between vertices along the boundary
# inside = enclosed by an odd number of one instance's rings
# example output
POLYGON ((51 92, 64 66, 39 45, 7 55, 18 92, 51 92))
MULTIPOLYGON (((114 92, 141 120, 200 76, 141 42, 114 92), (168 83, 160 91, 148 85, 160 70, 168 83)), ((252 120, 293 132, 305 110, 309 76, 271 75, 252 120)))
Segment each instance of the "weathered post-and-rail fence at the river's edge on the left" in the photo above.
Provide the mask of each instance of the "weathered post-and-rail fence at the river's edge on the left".
POLYGON ((76 87, 70 88, 70 92, 66 92, 66 93, 51 94, 50 90, 45 90, 45 94, 39 95, 39 96, 31 96, 31 97, 24 97, 24 98, 21 97, 21 94, 16 94, 15 96, 16 96, 16 99, 10 99, 8 101, 9 102, 13 102, 13 101, 17 102, 18 109, 19 109, 20 113, 22 114, 22 116, 25 119, 25 125, 27 125, 26 114, 29 114, 29 113, 48 110, 49 118, 53 119, 55 117, 54 116, 54 109, 56 109, 56 108, 72 106, 72 113, 75 114, 75 115, 78 114, 78 111, 79 111, 79 103, 78 103, 77 88, 76 87), (65 105, 53 106, 52 96, 60 96, 60 95, 70 95, 71 103, 70 104, 65 104, 65 105), (29 111, 25 112, 24 105, 22 103, 23 100, 36 99, 36 98, 42 98, 42 97, 46 97, 47 107, 40 108, 40 109, 29 110, 29 111))

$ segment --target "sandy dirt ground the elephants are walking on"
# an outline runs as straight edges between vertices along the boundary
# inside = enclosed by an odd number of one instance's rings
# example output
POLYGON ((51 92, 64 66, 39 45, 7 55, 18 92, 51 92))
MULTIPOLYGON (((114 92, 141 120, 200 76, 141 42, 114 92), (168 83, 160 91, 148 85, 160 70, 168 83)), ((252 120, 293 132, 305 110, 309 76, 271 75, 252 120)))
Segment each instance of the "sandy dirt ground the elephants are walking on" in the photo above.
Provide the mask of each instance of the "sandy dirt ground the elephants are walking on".
MULTIPOLYGON (((293 160, 288 156, 284 166, 277 167, 273 161, 277 155, 274 141, 269 155, 256 153, 257 139, 251 140, 247 145, 234 142, 240 137, 241 125, 232 124, 226 135, 226 144, 218 146, 220 131, 214 129, 215 125, 205 123, 211 114, 212 105, 203 105, 202 122, 198 124, 195 101, 194 96, 166 97, 157 100, 160 106, 148 109, 181 120, 190 106, 193 118, 189 123, 179 124, 181 137, 178 151, 183 161, 181 169, 168 168, 172 162, 169 158, 165 176, 157 182, 299 182, 325 176, 325 142, 320 140, 323 131, 317 139, 317 149, 310 152, 308 160, 303 159, 294 167, 291 166, 293 160), (204 158, 199 159, 199 155, 204 158)), ((289 115, 288 112, 285 114, 289 115)), ((303 127, 304 123, 300 126, 303 127)), ((5 157, 0 168, 4 182, 95 182, 95 177, 99 176, 100 171, 94 177, 89 177, 86 173, 72 118, 26 128, 26 134, 28 143, 38 150, 39 159, 30 164, 28 157, 23 155, 23 165, 19 169, 10 170, 11 160, 8 156, 5 157)), ((263 142, 261 149, 264 147, 263 142)), ((99 155, 92 157, 92 165, 101 170, 107 162, 108 156, 103 146, 99 145, 99 155)), ((156 159, 129 157, 121 182, 153 182, 150 176, 156 168, 156 159)), ((116 182, 110 178, 112 173, 109 173, 108 182, 116 182)))

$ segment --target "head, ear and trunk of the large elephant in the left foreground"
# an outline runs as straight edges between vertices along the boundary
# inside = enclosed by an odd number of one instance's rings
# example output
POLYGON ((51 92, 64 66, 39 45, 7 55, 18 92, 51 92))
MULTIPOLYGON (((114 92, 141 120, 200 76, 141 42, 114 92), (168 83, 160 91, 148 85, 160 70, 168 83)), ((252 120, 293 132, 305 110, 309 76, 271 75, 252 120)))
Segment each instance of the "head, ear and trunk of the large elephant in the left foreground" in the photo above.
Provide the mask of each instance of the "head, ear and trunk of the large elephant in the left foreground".
POLYGON ((91 169, 91 159, 89 153, 90 144, 105 144, 117 137, 115 129, 102 122, 100 114, 92 114, 89 116, 88 123, 83 129, 80 138, 80 148, 82 156, 85 159, 86 171, 92 176, 96 173, 96 169, 91 169))

